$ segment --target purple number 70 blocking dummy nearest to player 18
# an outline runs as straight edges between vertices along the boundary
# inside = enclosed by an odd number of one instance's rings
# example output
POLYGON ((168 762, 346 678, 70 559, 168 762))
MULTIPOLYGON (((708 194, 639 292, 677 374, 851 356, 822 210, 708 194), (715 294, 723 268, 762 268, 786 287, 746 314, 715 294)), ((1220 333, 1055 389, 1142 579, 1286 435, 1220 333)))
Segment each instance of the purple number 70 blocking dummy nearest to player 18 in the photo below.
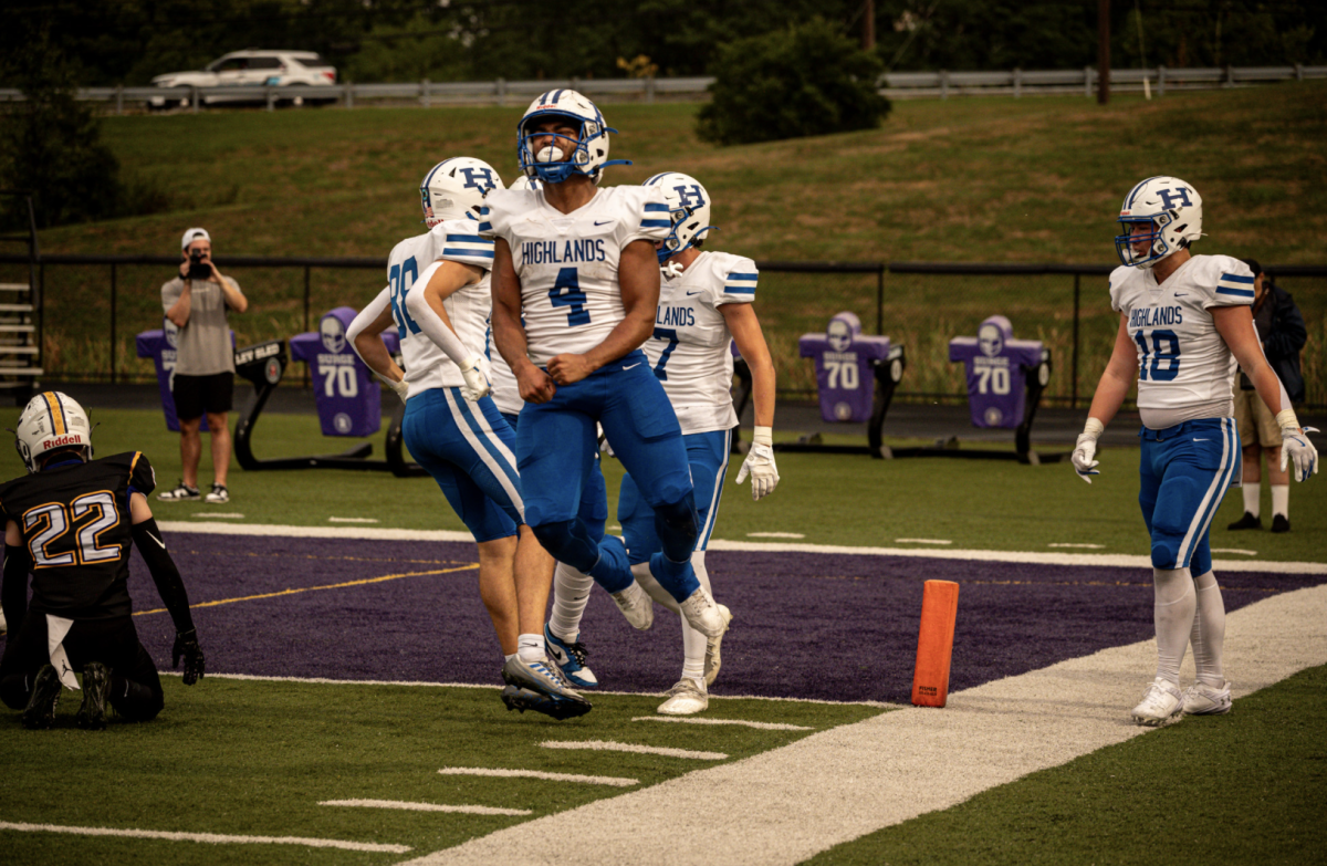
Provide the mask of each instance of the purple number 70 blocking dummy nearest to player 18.
POLYGON ((967 405, 973 426, 1016 428, 1027 402, 1024 367, 1042 363, 1040 340, 1015 340, 1005 316, 991 316, 975 337, 949 341, 949 360, 967 368, 967 405))

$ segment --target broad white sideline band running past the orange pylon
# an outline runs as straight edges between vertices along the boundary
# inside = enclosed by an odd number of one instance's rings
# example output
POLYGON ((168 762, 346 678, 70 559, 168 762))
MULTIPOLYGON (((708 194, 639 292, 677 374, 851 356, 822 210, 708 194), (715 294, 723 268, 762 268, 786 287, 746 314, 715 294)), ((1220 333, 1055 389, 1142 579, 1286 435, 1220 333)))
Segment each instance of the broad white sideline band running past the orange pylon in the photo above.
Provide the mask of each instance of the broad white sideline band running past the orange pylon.
MULTIPOLYGON (((1226 615, 1225 661, 1243 697, 1327 664, 1327 584, 1226 615)), ((622 862, 800 863, 835 845, 947 809, 1028 773, 1145 733, 1128 720, 1156 669, 1154 642, 1112 647, 798 742, 694 770, 409 861, 413 866, 539 863, 531 838, 572 838, 580 866, 622 862), (808 792, 813 792, 808 796, 808 792), (752 809, 754 801, 760 809, 752 809), (697 821, 682 804, 705 804, 697 821), (740 845, 733 845, 740 827, 740 845)), ((1193 676, 1193 664, 1182 672, 1193 676)), ((1238 704, 1235 712, 1239 712, 1238 704)), ((1184 725, 1202 725, 1189 719, 1184 725)), ((1173 735, 1172 735, 1173 736, 1173 735)))

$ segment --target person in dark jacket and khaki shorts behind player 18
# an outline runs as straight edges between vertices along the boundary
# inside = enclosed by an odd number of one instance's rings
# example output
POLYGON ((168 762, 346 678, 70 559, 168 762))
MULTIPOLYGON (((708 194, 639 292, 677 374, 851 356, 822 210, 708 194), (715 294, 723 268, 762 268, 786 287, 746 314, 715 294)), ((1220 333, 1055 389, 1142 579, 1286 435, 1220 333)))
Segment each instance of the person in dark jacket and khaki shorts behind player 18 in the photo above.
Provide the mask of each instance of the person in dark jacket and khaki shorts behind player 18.
MULTIPOLYGON (((1286 387, 1291 402, 1303 402, 1304 377, 1299 371, 1299 352, 1308 341, 1308 328, 1290 292, 1267 279, 1262 266, 1245 259, 1254 274, 1253 324, 1262 340, 1262 353, 1286 387)), ((1271 409, 1258 397, 1249 376, 1235 373, 1235 422, 1243 448, 1245 513, 1226 529, 1262 529, 1262 453, 1267 453, 1267 481, 1271 485, 1271 531, 1290 531, 1290 473, 1281 464, 1281 428, 1271 409)))

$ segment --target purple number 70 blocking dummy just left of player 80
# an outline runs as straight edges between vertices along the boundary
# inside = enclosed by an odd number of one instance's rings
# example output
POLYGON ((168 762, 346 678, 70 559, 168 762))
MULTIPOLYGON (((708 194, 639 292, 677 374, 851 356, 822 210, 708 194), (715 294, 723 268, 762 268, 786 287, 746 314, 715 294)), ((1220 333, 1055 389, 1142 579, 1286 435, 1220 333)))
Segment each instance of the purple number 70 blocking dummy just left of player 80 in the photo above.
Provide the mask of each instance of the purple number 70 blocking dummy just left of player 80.
MULTIPOLYGON (((291 359, 309 365, 322 436, 372 436, 382 425, 382 389, 378 380, 346 343, 354 320, 352 307, 337 307, 318 323, 317 333, 291 337, 291 359)), ((397 335, 382 335, 387 351, 398 351, 397 335)))

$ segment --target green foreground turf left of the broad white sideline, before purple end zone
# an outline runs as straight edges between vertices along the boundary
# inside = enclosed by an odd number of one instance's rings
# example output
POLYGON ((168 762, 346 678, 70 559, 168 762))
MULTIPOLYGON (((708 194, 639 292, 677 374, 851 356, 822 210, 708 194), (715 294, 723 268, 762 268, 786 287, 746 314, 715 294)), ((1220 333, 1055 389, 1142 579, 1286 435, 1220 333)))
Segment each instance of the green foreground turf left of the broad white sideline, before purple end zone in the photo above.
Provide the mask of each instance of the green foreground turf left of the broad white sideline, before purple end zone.
MULTIPOLYGON (((722 761, 547 749, 549 740, 610 740, 721 752, 738 761, 815 731, 860 721, 876 707, 715 700, 709 719, 780 721, 808 731, 633 723, 657 696, 597 695, 591 715, 556 723, 508 712, 496 688, 163 679, 166 709, 150 724, 111 717, 74 727, 66 695, 52 731, 5 720, 0 821, 183 833, 295 835, 409 845, 410 855, 638 788, 532 778, 441 776, 443 766, 617 776, 640 786, 722 761), (528 817, 320 806, 397 800, 527 809, 528 817)), ((107 839, 0 829, 7 865, 52 862, 384 863, 401 854, 288 845, 107 839)))

